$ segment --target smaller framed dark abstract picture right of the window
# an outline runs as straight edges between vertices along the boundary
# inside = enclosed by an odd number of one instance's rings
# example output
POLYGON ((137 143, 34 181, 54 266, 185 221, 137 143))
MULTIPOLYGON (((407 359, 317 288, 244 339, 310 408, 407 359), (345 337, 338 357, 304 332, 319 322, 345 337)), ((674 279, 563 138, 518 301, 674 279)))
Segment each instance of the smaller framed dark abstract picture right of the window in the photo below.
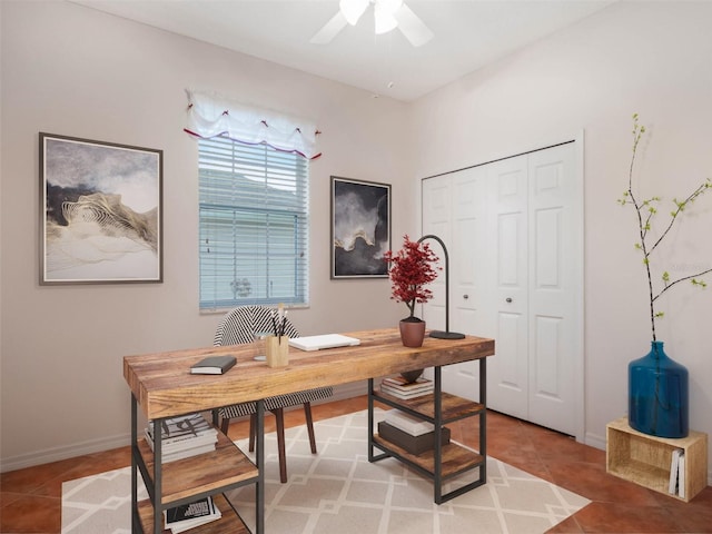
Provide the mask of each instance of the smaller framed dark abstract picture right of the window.
POLYGON ((387 278, 390 185, 332 176, 330 197, 330 278, 387 278))

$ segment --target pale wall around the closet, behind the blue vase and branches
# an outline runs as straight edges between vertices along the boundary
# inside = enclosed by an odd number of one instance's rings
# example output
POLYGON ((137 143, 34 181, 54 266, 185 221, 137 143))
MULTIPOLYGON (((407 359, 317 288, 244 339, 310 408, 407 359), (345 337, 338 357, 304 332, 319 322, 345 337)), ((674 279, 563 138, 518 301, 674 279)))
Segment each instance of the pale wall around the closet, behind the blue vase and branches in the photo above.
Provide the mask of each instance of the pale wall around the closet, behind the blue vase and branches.
MULTIPOLYGON (((711 20, 710 2, 619 2, 414 106, 418 178, 585 131, 585 429, 599 447, 605 424, 626 413, 627 364, 651 340, 634 212, 616 205, 627 188, 631 116, 649 127, 639 168, 644 196, 670 202, 712 177, 711 20)), ((672 209, 665 206, 661 218, 672 209)), ((712 267, 712 195, 669 238, 672 276, 712 267)), ((685 285, 663 297, 657 332, 690 370, 691 427, 708 434, 711 288, 685 285)))

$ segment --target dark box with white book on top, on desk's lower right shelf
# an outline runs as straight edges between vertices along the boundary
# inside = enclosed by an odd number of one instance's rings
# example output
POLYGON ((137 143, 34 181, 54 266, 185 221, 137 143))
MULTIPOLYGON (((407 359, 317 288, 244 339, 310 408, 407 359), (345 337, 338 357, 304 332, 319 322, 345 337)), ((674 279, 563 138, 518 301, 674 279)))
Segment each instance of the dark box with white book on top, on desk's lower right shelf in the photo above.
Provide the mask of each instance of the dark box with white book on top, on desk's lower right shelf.
MULTIPOLYGON (((423 454, 435 448, 435 427, 427 421, 392 409, 378 423, 378 435, 411 454, 423 454)), ((441 444, 449 443, 449 428, 441 431, 441 444)))

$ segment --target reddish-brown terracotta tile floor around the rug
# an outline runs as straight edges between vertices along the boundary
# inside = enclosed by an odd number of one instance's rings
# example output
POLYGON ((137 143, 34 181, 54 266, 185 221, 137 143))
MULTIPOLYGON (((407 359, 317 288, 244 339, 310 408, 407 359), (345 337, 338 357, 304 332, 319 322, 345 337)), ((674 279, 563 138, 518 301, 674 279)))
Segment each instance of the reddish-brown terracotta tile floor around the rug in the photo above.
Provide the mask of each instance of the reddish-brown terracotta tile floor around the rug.
MULTIPOLYGON (((364 396, 317 405, 313 412, 315 419, 325 419, 366 407, 364 396)), ((303 423, 300 409, 285 414, 286 426, 303 423)), ((476 446, 476 427, 448 426, 453 439, 476 446)), ((265 427, 274 431, 274 417, 266 418, 265 427)), ((231 437, 246 435, 246 422, 230 426, 231 437)), ((487 415, 487 449, 503 462, 592 501, 551 533, 712 533, 712 486, 683 503, 607 475, 603 451, 497 413, 487 415)), ((0 533, 59 534, 62 482, 129 464, 127 446, 1 474, 0 533)))

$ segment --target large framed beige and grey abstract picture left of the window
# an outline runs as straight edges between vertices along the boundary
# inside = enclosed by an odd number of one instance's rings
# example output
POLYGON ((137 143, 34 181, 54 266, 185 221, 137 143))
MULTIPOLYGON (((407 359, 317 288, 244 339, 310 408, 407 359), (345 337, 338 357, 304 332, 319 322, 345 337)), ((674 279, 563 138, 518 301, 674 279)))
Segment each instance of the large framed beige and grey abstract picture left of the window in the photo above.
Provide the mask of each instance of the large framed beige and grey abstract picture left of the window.
POLYGON ((162 150, 40 132, 40 285, 162 283, 162 150))

